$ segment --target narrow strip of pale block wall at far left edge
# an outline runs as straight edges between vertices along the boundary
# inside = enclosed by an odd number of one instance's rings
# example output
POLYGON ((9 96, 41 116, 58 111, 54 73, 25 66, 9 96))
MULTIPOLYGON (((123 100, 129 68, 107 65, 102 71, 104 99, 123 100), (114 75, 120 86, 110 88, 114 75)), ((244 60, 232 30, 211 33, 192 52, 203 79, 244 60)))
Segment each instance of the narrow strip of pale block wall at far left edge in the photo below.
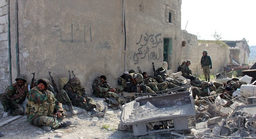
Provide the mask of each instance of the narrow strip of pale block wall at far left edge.
POLYGON ((7 3, 0 0, 0 92, 9 85, 7 3))

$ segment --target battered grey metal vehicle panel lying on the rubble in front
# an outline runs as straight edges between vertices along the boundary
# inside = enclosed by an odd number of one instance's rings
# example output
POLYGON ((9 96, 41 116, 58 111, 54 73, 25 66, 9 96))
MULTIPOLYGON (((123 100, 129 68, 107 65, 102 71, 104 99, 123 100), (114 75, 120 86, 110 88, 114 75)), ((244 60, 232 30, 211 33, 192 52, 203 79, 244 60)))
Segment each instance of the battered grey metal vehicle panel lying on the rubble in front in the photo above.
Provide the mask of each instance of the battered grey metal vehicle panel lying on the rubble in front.
POLYGON ((185 91, 136 99, 123 106, 120 119, 121 124, 132 125, 135 136, 141 136, 154 132, 185 132, 191 116, 195 116, 194 100, 190 92, 185 91), (139 103, 139 108, 133 110, 135 103, 139 103))

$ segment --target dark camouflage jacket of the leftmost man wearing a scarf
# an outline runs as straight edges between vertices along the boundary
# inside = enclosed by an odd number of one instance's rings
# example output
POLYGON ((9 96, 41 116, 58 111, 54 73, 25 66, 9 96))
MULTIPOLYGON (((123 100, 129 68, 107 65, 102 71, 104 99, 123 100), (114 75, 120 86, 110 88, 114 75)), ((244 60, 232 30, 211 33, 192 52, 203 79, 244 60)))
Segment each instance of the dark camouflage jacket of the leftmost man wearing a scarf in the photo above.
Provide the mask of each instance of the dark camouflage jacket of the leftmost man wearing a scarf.
MULTIPOLYGON (((27 83, 24 83, 24 85, 26 84, 26 89, 24 91, 24 95, 20 95, 17 99, 15 99, 15 103, 16 104, 22 104, 22 102, 25 100, 26 98, 26 95, 28 94, 29 92, 29 86, 27 83)), ((12 97, 12 96, 15 96, 15 95, 18 95, 18 90, 16 87, 12 87, 12 85, 8 86, 6 88, 6 90, 4 91, 4 93, 6 93, 8 95, 8 97, 12 97)))

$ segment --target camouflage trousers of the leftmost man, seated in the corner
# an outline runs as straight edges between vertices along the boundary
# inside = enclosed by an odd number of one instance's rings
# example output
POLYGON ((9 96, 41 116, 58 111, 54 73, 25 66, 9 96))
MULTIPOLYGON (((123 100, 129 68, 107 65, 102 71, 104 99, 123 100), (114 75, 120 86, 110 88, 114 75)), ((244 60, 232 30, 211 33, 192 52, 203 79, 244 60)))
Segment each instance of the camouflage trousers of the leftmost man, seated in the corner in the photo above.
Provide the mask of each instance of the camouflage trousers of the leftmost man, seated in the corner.
POLYGON ((24 108, 21 104, 16 104, 6 93, 0 94, 0 101, 4 107, 4 112, 10 110, 11 115, 24 115, 24 108))

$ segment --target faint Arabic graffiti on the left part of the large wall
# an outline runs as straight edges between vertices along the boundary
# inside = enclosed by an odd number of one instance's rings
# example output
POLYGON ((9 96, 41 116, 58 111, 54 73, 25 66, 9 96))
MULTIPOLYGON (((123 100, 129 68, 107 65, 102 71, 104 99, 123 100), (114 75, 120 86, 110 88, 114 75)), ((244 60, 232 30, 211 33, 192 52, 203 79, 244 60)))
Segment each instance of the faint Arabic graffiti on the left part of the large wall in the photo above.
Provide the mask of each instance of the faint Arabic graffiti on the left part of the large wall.
MULTIPOLYGON (((54 26, 54 27, 59 27, 59 26, 54 26)), ((59 35, 59 37, 60 37, 60 41, 61 42, 71 42, 71 43, 73 43, 73 42, 87 42, 86 41, 86 26, 84 25, 84 28, 83 28, 83 33, 84 34, 76 34, 77 36, 84 36, 84 39, 82 38, 81 40, 79 40, 79 39, 76 39, 76 38, 74 38, 74 30, 75 31, 77 31, 79 29, 79 24, 76 24, 76 25, 74 25, 74 24, 71 24, 71 34, 70 34, 70 39, 64 39, 63 37, 62 37, 62 29, 57 29, 57 32, 59 32, 60 33, 60 35, 59 35), (75 29, 74 29, 75 28, 75 29)), ((91 38, 91 27, 90 27, 90 41, 92 41, 92 38, 91 38)))

